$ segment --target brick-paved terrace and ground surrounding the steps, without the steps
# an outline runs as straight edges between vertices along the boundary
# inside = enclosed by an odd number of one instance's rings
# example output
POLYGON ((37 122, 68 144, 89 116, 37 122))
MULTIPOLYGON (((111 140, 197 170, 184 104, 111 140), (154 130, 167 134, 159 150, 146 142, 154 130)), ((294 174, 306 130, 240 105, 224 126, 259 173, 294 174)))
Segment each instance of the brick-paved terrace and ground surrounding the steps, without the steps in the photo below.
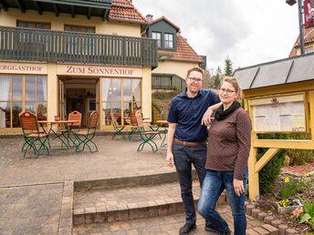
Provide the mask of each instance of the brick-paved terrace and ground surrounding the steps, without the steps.
MULTIPOLYGON (((161 139, 158 140, 161 143, 161 139)), ((99 152, 75 153, 51 150, 50 156, 23 158, 20 138, 0 138, 0 234, 69 234, 72 226, 73 181, 115 179, 173 172, 165 163, 165 151, 152 153, 139 142, 97 136, 99 152), (71 195, 72 194, 72 195, 71 195)), ((228 209, 228 208, 227 208, 228 209)), ((231 222, 231 215, 225 212, 231 222)), ((258 222, 258 221, 257 221, 258 222)), ((199 225, 202 225, 200 220, 199 225)), ((252 220, 249 226, 256 223, 252 220)), ((97 224, 75 229, 79 234, 177 234, 183 215, 97 224), (142 226, 143 223, 147 226, 142 226), (164 223, 164 224, 162 224, 164 223), (135 228, 140 226, 141 228, 135 228)), ((204 230, 196 230, 203 234, 204 230)))

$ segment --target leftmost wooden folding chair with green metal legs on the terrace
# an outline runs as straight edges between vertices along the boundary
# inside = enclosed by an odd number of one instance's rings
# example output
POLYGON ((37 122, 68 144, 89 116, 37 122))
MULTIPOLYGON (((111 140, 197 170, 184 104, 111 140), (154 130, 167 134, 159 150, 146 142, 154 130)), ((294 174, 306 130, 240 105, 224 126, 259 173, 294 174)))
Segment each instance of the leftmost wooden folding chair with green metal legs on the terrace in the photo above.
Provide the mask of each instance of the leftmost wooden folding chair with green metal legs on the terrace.
POLYGON ((48 134, 39 131, 37 117, 35 114, 23 111, 19 114, 20 124, 23 130, 23 137, 25 143, 22 147, 24 152, 24 158, 26 157, 26 151, 33 149, 35 156, 38 158, 40 150, 46 150, 49 155, 49 149, 46 146, 48 134))

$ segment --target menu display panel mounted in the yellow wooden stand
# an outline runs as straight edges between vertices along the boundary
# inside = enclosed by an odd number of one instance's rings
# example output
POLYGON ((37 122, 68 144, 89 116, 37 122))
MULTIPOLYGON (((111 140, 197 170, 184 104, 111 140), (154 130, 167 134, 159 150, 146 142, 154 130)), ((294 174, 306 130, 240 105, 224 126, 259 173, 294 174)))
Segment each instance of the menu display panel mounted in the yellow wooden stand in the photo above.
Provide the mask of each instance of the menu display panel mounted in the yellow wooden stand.
POLYGON ((250 100, 256 132, 305 132, 304 94, 250 100))

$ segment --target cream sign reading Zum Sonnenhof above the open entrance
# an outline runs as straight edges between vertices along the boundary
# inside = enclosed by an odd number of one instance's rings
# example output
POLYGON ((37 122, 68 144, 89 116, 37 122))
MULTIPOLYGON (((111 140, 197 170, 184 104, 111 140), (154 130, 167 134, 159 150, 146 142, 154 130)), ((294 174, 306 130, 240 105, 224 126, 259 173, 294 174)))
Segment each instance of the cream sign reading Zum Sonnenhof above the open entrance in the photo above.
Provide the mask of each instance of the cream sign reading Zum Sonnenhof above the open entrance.
POLYGON ((97 77, 141 77, 141 68, 115 66, 58 65, 58 75, 97 77))

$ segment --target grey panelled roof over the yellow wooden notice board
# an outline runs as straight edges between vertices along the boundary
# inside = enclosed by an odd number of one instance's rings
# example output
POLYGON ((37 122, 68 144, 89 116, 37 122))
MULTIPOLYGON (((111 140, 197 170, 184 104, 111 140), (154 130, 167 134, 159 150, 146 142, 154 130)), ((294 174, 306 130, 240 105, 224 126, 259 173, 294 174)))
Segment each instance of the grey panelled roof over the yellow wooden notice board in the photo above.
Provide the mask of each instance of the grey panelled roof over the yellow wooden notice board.
POLYGON ((314 80, 314 53, 235 69, 242 89, 314 80))

